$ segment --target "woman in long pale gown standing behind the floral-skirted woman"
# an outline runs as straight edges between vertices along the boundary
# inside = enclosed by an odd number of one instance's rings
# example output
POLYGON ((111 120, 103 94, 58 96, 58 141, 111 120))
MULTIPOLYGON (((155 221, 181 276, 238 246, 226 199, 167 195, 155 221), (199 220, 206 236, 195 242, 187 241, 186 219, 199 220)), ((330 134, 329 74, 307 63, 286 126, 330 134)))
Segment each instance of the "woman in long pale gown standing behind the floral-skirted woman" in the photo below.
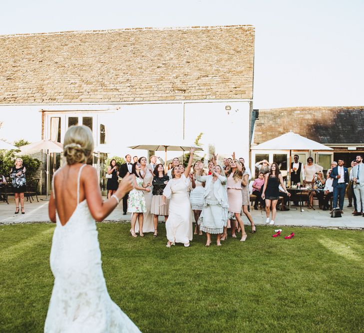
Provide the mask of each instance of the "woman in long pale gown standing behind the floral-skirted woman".
MULTIPOLYGON (((143 178, 143 183, 145 187, 150 189, 149 192, 144 192, 145 198, 145 209, 146 212, 143 213, 143 231, 142 233, 152 233, 154 232, 154 224, 153 224, 153 214, 150 213, 150 209, 152 207, 152 180, 153 173, 147 166, 147 159, 145 157, 140 157, 138 162, 141 164, 140 174, 143 178)), ((135 224, 135 232, 139 232, 139 223, 135 224)))

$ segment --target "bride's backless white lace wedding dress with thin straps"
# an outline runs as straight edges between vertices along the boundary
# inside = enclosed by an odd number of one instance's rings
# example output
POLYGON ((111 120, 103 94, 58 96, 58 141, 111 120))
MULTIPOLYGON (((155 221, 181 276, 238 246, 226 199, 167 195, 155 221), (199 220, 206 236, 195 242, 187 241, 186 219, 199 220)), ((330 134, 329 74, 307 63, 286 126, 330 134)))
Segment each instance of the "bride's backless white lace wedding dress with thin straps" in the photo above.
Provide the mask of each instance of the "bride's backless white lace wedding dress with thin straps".
POLYGON ((96 223, 86 200, 79 203, 83 166, 78 172, 75 211, 64 226, 56 214, 50 251, 54 286, 44 332, 140 332, 107 292, 96 223))

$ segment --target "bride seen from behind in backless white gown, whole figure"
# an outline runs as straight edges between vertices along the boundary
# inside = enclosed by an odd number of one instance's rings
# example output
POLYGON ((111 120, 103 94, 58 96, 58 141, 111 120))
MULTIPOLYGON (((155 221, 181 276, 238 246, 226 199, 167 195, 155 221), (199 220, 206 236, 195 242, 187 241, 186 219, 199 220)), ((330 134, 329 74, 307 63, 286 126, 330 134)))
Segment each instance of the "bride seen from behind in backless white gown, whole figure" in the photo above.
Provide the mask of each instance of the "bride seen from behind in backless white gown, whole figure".
POLYGON ((48 206, 56 227, 50 251, 54 286, 44 332, 140 332, 107 292, 95 224, 133 188, 134 177, 124 177, 103 201, 96 169, 84 164, 93 151, 90 129, 70 127, 63 149, 67 164, 53 176, 48 206))

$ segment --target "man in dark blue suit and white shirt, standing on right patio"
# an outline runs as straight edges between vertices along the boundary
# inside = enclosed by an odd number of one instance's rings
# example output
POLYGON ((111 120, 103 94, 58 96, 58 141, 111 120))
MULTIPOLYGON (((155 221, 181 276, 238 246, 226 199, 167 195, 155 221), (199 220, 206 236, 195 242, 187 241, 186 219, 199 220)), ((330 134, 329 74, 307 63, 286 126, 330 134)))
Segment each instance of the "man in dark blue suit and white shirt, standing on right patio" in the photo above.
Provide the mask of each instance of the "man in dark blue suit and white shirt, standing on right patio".
POLYGON ((349 171, 344 167, 343 160, 338 161, 338 166, 333 168, 333 171, 330 173, 330 178, 334 179, 333 208, 337 208, 339 198, 339 207, 341 213, 343 214, 345 190, 349 184, 349 171))

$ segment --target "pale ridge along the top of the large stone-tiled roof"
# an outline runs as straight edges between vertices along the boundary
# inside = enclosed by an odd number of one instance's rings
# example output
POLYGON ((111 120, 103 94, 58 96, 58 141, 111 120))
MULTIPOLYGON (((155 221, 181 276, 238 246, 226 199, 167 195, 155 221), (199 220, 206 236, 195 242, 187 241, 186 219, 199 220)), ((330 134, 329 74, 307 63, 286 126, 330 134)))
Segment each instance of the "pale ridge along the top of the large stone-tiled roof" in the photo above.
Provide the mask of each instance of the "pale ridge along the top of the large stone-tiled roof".
POLYGON ((14 33, 14 34, 0 34, 0 38, 8 37, 27 37, 36 35, 57 35, 57 34, 72 34, 72 33, 107 33, 119 31, 142 31, 142 30, 189 30, 189 29, 219 29, 219 28, 241 28, 250 27, 254 28, 252 24, 240 25, 194 25, 194 26, 178 26, 178 27, 133 27, 133 28, 120 28, 120 29, 100 29, 100 30, 69 30, 69 31, 53 31, 53 32, 34 32, 34 33, 14 33))

